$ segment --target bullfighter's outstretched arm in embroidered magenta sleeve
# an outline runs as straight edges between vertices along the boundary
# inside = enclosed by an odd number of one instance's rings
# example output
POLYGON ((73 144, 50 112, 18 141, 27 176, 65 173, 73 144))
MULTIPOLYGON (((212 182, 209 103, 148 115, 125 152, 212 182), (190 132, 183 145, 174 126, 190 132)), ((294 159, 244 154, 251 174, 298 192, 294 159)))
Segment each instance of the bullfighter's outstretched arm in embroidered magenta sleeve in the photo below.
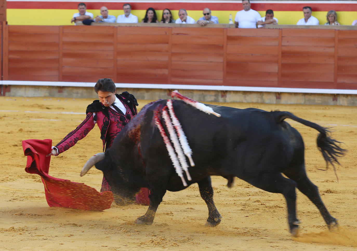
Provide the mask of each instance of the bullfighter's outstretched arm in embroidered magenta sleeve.
POLYGON ((89 131, 93 129, 94 125, 95 125, 95 121, 94 121, 93 113, 88 113, 85 120, 83 120, 83 122, 79 126, 77 126, 76 129, 74 129, 69 134, 67 134, 67 136, 64 137, 63 140, 61 140, 55 146, 55 148, 58 149, 58 153, 57 154, 50 153, 49 155, 58 155, 68 150, 70 147, 74 146, 77 143, 77 141, 87 136, 89 131))

